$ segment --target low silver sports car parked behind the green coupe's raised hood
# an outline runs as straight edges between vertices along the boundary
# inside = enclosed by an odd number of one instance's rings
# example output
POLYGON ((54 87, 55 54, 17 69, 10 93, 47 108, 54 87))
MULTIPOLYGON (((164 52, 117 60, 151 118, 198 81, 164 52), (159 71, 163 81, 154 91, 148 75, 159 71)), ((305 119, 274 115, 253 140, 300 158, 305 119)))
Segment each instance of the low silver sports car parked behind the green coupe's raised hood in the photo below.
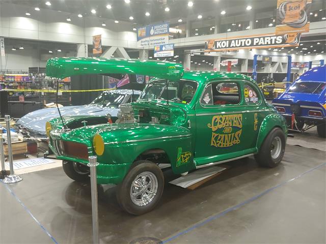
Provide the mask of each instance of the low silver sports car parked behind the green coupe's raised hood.
MULTIPOLYGON (((61 107, 60 113, 62 116, 110 114, 114 121, 117 118, 119 106, 137 100, 140 94, 140 90, 109 90, 103 92, 88 105, 61 107)), ((56 117, 59 117, 58 108, 43 108, 24 115, 17 121, 17 125, 31 137, 45 139, 47 138, 45 123, 56 117)))

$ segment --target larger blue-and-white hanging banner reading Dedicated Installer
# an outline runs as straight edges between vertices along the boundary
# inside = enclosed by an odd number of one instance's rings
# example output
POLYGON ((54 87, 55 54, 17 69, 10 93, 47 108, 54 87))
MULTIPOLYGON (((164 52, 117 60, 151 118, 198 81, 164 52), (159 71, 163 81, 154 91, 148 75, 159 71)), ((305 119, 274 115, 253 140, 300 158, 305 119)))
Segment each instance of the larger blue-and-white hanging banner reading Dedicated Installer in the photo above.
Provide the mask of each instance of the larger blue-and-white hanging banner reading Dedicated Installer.
POLYGON ((150 24, 137 29, 137 47, 157 46, 169 43, 169 23, 150 24))

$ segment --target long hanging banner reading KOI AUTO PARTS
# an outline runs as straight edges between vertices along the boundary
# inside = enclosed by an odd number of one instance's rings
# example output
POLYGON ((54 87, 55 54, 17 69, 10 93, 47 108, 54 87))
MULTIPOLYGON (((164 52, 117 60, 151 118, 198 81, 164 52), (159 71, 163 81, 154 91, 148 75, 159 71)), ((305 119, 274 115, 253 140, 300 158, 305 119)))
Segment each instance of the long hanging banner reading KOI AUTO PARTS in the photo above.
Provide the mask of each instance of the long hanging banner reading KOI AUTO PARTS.
POLYGON ((231 37, 205 42, 205 52, 220 52, 244 48, 273 48, 298 46, 301 34, 264 34, 246 37, 231 37))

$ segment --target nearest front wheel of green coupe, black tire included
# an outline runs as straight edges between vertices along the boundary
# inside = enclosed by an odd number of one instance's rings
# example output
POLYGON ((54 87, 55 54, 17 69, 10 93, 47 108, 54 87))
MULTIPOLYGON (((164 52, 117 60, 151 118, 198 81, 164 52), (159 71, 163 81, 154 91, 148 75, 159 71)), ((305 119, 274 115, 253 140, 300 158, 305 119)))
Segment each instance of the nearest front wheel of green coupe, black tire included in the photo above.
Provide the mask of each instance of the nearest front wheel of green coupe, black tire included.
POLYGON ((131 215, 143 215, 158 203, 164 189, 164 176, 151 161, 134 162, 117 189, 121 208, 131 215))

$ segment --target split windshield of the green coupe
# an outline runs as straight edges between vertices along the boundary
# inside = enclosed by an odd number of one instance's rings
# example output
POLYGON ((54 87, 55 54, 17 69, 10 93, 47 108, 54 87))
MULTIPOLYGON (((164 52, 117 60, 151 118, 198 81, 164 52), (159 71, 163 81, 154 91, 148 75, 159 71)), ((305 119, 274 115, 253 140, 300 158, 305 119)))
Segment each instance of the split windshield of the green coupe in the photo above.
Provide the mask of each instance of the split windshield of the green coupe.
POLYGON ((192 101, 197 86, 197 82, 190 80, 157 80, 147 85, 139 100, 160 99, 187 104, 192 101))

